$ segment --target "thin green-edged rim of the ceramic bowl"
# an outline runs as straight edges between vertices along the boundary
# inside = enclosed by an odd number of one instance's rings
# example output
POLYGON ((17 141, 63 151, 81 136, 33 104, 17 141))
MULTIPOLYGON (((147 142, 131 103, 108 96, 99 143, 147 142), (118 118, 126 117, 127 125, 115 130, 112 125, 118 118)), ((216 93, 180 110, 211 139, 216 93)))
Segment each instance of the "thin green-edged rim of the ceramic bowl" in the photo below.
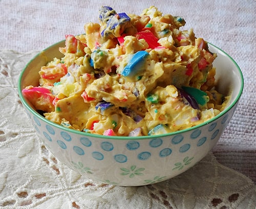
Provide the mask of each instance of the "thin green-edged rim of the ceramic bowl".
POLYGON ((102 138, 102 139, 112 139, 112 140, 131 140, 131 139, 136 139, 136 140, 145 140, 145 139, 150 139, 150 138, 155 138, 155 137, 166 137, 166 136, 173 136, 173 135, 177 135, 177 134, 181 134, 181 133, 185 133, 185 132, 189 132, 189 131, 192 131, 192 130, 195 130, 197 128, 200 128, 200 127, 203 127, 211 122, 214 122, 216 120, 218 120, 219 118, 221 118, 224 114, 226 114, 231 108, 233 108, 233 106, 235 106, 240 98, 241 98, 241 95, 242 95, 242 92, 243 92, 243 88, 244 88, 244 78, 243 78, 243 74, 242 74, 242 71, 241 71, 241 68, 239 67, 239 65, 237 64, 236 61, 234 61, 234 59, 229 55, 227 54, 225 51, 223 51, 222 49, 220 49, 219 47, 216 47, 216 45, 210 43, 210 42, 207 42, 209 45, 211 45, 211 47, 213 48, 216 48, 217 50, 221 51, 225 56, 227 56, 232 62, 233 64, 237 67, 238 69, 238 72, 239 72, 239 77, 241 79, 241 86, 240 86, 240 89, 239 89, 239 92, 238 92, 238 95, 237 97, 234 99, 234 101, 232 103, 230 103, 228 105, 227 108, 225 108, 223 111, 221 111, 218 115, 216 115, 214 118, 212 119, 209 119, 201 124, 198 124, 196 126, 193 126, 193 127, 190 127, 190 128, 186 128, 186 129, 182 129, 182 130, 179 130, 179 131, 175 131, 175 132, 170 132, 170 133, 164 133, 164 134, 157 134, 157 135, 145 135, 145 136, 107 136, 107 135, 99 135, 99 134, 93 134, 93 133, 88 133, 88 132, 83 132, 83 131, 78 131, 78 130, 75 130, 75 129, 70 129, 70 128, 66 128, 66 127, 63 127, 59 124, 56 124, 50 120, 47 120, 45 117, 43 117, 42 115, 40 115, 37 111, 35 111, 26 101, 26 99, 23 97, 23 94, 22 94, 22 79, 23 79, 23 75, 27 69, 27 67, 29 66, 29 64, 35 59, 37 58, 38 56, 40 56, 42 53, 44 53, 45 51, 55 47, 56 45, 59 45, 61 44, 62 42, 64 42, 65 40, 61 40, 59 42, 56 42, 52 45, 50 45, 48 48, 40 51, 39 53, 37 53, 26 65, 25 67, 22 69, 22 72, 20 73, 20 76, 19 76, 19 79, 18 79, 18 96, 20 98, 20 100, 22 101, 23 105, 37 118, 40 118, 42 121, 44 121, 45 123, 47 124, 50 124, 56 128, 59 128, 59 129, 62 129, 62 130, 65 130, 65 131, 68 131, 68 132, 72 132, 74 134, 80 134, 80 135, 83 135, 83 136, 89 136, 89 137, 95 137, 95 138, 102 138))

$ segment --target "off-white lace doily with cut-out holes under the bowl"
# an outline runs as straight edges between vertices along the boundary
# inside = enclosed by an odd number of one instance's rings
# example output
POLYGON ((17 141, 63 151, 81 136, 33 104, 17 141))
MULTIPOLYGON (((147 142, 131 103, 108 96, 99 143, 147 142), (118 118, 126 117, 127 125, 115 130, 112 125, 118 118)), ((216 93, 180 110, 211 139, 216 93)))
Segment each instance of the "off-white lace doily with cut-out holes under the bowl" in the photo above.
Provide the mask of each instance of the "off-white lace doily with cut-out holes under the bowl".
POLYGON ((255 208, 253 181, 212 153, 175 178, 141 187, 99 183, 61 164, 17 94, 18 76, 35 54, 0 51, 0 208, 255 208))

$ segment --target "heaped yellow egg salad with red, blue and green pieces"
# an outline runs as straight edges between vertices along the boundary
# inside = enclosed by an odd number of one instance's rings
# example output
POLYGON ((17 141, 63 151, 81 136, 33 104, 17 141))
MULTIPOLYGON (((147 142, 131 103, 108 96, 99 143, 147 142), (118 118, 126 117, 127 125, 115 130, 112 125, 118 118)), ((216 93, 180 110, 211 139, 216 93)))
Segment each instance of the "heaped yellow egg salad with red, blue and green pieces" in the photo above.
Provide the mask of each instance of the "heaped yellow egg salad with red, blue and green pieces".
POLYGON ((181 16, 156 7, 140 15, 99 9, 84 34, 66 35, 61 59, 42 66, 23 95, 61 126, 111 136, 174 132, 219 114, 228 97, 215 89, 217 55, 181 16))

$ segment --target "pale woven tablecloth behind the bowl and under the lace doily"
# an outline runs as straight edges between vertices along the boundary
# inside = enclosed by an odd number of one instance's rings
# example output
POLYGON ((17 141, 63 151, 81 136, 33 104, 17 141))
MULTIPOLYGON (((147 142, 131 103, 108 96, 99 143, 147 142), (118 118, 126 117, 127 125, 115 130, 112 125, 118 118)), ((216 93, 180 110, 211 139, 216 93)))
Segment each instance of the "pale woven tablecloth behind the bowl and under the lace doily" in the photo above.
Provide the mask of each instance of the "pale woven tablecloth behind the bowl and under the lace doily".
MULTIPOLYGON (((119 3, 117 3, 117 1, 114 2, 102 0, 80 0, 73 2, 63 0, 0 1, 1 73, 6 75, 8 74, 9 68, 7 69, 7 73, 3 68, 7 65, 17 67, 15 63, 13 63, 14 60, 19 62, 19 69, 17 70, 17 73, 19 73, 22 71, 26 61, 31 59, 36 52, 47 48, 49 45, 55 42, 65 39, 66 34, 75 35, 84 33, 83 25, 85 23, 89 21, 98 21, 98 8, 100 8, 102 5, 111 6, 116 11, 125 11, 127 13, 135 14, 140 14, 144 8, 155 5, 163 14, 169 13, 174 16, 183 16, 183 18, 186 20, 184 29, 193 28, 197 37, 203 37, 208 42, 215 44, 217 47, 223 49, 238 63, 244 76, 243 95, 240 99, 239 105, 236 112, 234 113, 232 120, 230 121, 217 145, 212 149, 212 153, 222 166, 238 171, 241 175, 248 177, 252 180, 252 182, 255 183, 256 74, 253 71, 256 65, 256 1, 151 0, 139 2, 122 0, 119 3), (5 62, 8 64, 5 65, 5 62)), ((0 85, 2 84, 3 83, 0 85)), ((2 85, 1 88, 3 86, 4 85, 2 85)), ((3 114, 1 113, 1 115, 3 114)), ((8 120, 12 119, 9 118, 8 120)), ((0 123, 0 149, 2 149, 4 146, 3 143, 8 141, 8 135, 4 134, 6 130, 4 130, 3 127, 3 124, 0 123), (4 137, 6 138, 3 139, 4 137)), ((48 156, 50 156, 50 154, 48 156)), ((50 159, 53 161, 53 165, 54 160, 56 159, 53 157, 50 159)), ((5 159, 0 156, 1 164, 4 162, 4 160, 5 159)), ((12 160, 15 160, 15 158, 12 160)), ((57 163, 60 164, 60 162, 57 163)), ((51 164, 51 162, 49 162, 49 164, 51 164)), ((2 167, 0 167, 0 171, 1 168, 2 167)), ((0 175, 3 176, 2 171, 0 175)), ((8 176, 8 173, 6 173, 6 176, 8 176)), ((1 182, 2 181, 0 179, 0 197, 2 196, 7 198, 9 195, 9 199, 5 199, 5 204, 8 203, 7 205, 15 205, 16 203, 10 203, 10 197, 14 194, 14 192, 12 195, 7 193, 3 194, 5 189, 2 188, 1 190, 1 185, 3 184, 1 182)), ((90 184, 92 182, 89 180, 88 183, 90 184)), ((20 196, 26 196, 26 192, 22 194, 16 192, 15 194, 16 197, 17 194, 20 196)), ((27 196, 24 197, 24 199, 28 198, 29 195, 27 191, 27 196)), ((43 198, 45 197, 38 197, 38 199, 43 198)), ((161 198, 163 199, 163 196, 161 198)), ((155 199, 157 200, 156 197, 155 199)), ((3 202, 0 202, 0 207, 3 206, 3 204, 3 202)), ((212 204, 214 205, 214 203, 212 204)), ((251 203, 251 205, 252 204, 253 203, 251 203)), ((39 205, 39 203, 37 205, 39 205)), ((75 201, 70 203, 69 206, 70 208, 80 207, 79 204, 77 204, 75 201)), ((166 205, 164 205, 163 208, 165 207, 168 208, 166 205)), ((38 206, 38 208, 40 207, 38 206)), ((62 207, 59 206, 56 208, 62 207)), ((96 207, 94 204, 94 208, 98 207, 96 207)), ((151 207, 145 206, 145 208, 151 207)))

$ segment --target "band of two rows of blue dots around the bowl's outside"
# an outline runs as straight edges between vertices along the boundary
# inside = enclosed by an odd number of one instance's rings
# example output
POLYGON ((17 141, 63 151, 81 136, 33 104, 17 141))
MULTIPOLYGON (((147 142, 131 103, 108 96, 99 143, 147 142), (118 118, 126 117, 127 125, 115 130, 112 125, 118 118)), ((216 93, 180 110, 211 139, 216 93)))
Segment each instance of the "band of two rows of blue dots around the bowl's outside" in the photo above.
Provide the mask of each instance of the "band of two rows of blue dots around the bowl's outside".
MULTIPOLYGON (((54 126, 51 126, 49 124, 46 124, 45 129, 42 129, 41 127, 43 126, 42 124, 44 123, 42 123, 36 117, 31 117, 31 118, 32 118, 34 129, 38 133, 40 133, 40 130, 42 131, 42 135, 46 139, 45 142, 56 143, 60 148, 60 150, 63 150, 63 151, 69 150, 69 152, 73 150, 73 152, 76 155, 85 155, 87 153, 97 161, 103 161, 106 158, 105 157, 106 154, 112 153, 111 155, 116 162, 120 164, 129 162, 129 156, 115 149, 115 143, 112 143, 111 141, 106 140, 106 141, 100 142, 99 145, 95 145, 94 141, 90 140, 89 137, 82 136, 78 140, 75 140, 75 138, 73 139, 75 142, 75 146, 74 146, 74 143, 70 143, 72 142, 72 134, 66 131, 59 132, 58 129, 56 129, 54 126), (91 147, 93 147, 94 150, 92 150, 91 147)), ((187 136, 180 133, 178 135, 170 137, 169 141, 167 140, 168 143, 166 143, 166 138, 163 140, 163 138, 161 137, 153 138, 148 142, 147 145, 143 144, 144 142, 143 140, 141 142, 137 140, 130 140, 125 144, 124 149, 128 150, 129 152, 136 151, 137 154, 134 156, 141 161, 150 159, 153 155, 152 153, 153 150, 156 150, 156 152, 154 151, 154 154, 158 153, 158 157, 160 158, 166 158, 166 157, 172 156, 174 152, 186 153, 192 147, 194 148, 204 147, 204 144, 207 142, 208 139, 214 140, 215 138, 218 138, 217 136, 221 134, 219 127, 226 126, 229 120, 228 120, 228 114, 225 114, 223 118, 218 122, 212 122, 207 127, 206 135, 204 135, 205 133, 202 134, 204 131, 202 131, 201 128, 198 128, 198 129, 195 129, 193 132, 191 132, 188 138, 187 136), (218 123, 220 124, 218 125, 218 123), (184 140, 185 137, 186 137, 186 140, 184 140), (189 138, 190 138, 190 141, 189 141, 189 138)))

